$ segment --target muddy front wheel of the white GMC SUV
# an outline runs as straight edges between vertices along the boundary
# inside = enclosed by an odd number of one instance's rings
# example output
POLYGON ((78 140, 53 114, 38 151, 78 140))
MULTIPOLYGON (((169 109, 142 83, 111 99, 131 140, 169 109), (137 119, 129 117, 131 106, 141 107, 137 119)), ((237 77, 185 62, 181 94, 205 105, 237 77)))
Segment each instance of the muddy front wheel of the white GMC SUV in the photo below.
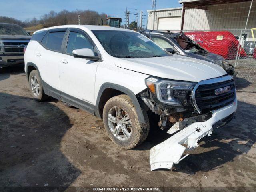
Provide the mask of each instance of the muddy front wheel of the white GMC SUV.
POLYGON ((135 106, 127 95, 110 98, 103 109, 104 127, 109 138, 125 149, 132 149, 147 138, 149 120, 146 113, 144 119, 146 123, 139 121, 135 106))

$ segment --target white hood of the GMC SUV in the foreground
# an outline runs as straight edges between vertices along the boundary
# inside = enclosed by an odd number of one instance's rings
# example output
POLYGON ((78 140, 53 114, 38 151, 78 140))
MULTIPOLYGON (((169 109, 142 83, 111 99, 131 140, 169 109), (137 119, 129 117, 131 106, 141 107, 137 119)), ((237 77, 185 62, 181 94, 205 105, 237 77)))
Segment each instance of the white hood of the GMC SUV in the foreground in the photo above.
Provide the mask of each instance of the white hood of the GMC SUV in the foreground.
POLYGON ((216 64, 178 55, 138 59, 116 58, 115 65, 160 78, 192 82, 226 75, 225 70, 216 64))

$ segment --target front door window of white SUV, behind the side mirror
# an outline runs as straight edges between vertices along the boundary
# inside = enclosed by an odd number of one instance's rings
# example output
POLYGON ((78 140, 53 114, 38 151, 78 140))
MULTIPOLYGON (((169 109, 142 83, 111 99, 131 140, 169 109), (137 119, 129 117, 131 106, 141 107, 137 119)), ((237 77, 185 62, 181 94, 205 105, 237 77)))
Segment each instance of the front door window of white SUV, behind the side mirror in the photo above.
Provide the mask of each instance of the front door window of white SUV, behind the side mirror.
POLYGON ((91 43, 90 39, 86 35, 71 31, 68 36, 66 52, 68 54, 72 54, 73 50, 84 48, 94 50, 94 45, 91 43))

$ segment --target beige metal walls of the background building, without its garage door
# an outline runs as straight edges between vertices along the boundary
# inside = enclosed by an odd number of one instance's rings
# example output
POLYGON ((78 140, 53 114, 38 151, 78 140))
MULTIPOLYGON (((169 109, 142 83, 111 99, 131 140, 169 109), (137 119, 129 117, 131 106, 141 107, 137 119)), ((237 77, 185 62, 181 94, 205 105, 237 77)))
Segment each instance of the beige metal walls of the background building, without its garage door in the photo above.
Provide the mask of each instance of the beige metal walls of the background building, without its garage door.
MULTIPOLYGON (((244 29, 249 8, 250 2, 208 6, 208 10, 186 8, 184 30, 244 29)), ((181 8, 156 10, 154 29, 158 27, 158 18, 181 15, 181 8)), ((148 29, 153 29, 153 20, 154 12, 148 11, 148 29)), ((247 28, 252 27, 256 27, 256 1, 253 2, 247 28)))

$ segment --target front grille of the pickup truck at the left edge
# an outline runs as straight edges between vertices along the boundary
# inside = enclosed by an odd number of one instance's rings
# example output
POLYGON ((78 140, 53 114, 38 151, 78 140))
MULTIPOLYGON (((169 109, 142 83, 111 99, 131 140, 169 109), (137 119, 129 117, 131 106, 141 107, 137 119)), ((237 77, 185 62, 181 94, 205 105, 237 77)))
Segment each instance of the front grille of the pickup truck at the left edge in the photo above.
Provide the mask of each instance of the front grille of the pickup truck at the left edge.
POLYGON ((6 54, 23 53, 23 48, 28 45, 28 42, 28 40, 3 40, 3 52, 6 54))

